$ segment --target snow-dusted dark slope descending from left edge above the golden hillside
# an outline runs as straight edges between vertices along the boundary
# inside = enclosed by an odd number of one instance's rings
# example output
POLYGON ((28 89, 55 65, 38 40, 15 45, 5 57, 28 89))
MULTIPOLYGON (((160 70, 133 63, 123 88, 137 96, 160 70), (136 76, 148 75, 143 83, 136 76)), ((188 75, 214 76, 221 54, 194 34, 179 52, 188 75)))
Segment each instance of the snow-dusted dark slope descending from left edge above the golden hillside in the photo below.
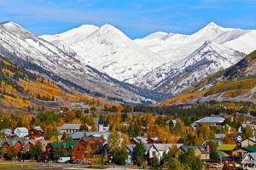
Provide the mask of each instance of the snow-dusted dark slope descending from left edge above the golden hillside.
POLYGON ((57 82, 66 82, 87 93, 104 94, 106 97, 125 101, 145 99, 143 94, 146 98, 150 98, 150 95, 158 96, 154 92, 119 82, 90 65, 85 65, 65 43, 59 42, 58 46, 61 48, 13 22, 0 24, 0 54, 15 64, 44 73, 57 82))

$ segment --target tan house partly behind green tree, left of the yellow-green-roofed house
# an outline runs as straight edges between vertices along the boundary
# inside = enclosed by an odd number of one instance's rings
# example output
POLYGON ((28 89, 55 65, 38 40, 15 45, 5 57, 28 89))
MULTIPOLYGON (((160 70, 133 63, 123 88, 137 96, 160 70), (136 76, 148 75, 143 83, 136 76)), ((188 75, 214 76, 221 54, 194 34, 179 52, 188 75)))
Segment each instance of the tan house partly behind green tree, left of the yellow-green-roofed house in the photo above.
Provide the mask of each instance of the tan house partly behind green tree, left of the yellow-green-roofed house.
POLYGON ((203 145, 182 145, 180 146, 177 151, 174 153, 174 156, 178 158, 182 153, 187 152, 189 149, 192 149, 195 151, 195 156, 199 156, 201 158, 201 161, 210 161, 210 151, 209 147, 207 148, 203 145))

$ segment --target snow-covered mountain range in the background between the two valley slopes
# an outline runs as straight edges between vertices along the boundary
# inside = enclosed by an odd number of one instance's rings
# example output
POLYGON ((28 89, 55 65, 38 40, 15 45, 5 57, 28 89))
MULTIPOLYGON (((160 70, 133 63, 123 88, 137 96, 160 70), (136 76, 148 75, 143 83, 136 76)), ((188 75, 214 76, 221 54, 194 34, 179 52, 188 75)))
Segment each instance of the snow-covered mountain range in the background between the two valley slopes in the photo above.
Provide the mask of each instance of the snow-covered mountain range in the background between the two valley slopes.
POLYGON ((256 31, 213 22, 192 35, 159 31, 136 40, 109 25, 84 25, 42 37, 58 47, 66 44, 81 62, 119 81, 172 93, 235 64, 256 48, 256 31))

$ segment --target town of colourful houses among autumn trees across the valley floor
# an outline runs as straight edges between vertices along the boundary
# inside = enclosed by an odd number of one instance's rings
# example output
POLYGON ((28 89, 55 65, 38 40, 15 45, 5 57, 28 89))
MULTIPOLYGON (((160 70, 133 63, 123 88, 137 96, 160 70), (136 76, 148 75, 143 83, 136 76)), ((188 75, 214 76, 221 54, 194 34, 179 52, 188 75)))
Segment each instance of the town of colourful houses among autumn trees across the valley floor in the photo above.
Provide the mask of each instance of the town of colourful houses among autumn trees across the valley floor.
POLYGON ((2 159, 154 169, 255 168, 256 124, 243 114, 184 118, 91 110, 1 113, 2 159))

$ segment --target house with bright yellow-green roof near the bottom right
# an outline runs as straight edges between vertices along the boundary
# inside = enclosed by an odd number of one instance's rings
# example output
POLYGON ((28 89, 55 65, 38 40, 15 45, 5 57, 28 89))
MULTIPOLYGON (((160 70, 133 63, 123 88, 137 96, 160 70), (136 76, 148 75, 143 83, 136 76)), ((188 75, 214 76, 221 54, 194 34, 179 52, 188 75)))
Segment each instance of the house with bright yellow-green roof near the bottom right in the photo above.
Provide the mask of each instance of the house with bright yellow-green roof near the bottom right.
POLYGON ((242 156, 247 153, 247 150, 237 146, 236 144, 221 144, 217 150, 223 151, 229 155, 233 161, 241 161, 242 156))

